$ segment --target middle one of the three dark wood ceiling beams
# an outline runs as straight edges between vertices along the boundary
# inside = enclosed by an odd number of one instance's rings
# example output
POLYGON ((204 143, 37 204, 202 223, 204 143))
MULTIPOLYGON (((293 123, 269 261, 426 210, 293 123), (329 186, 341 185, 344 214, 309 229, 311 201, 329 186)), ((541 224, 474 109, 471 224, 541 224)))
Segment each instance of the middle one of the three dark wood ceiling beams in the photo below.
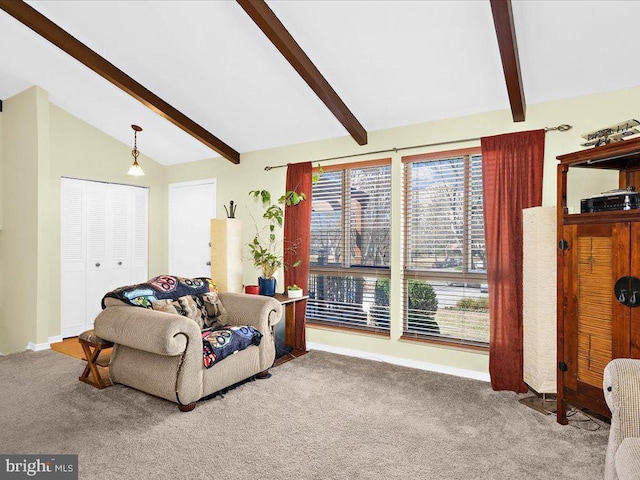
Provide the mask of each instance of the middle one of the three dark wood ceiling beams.
POLYGON ((236 0, 271 43, 307 82, 338 121, 360 145, 367 144, 367 131, 333 87, 263 0, 236 0))

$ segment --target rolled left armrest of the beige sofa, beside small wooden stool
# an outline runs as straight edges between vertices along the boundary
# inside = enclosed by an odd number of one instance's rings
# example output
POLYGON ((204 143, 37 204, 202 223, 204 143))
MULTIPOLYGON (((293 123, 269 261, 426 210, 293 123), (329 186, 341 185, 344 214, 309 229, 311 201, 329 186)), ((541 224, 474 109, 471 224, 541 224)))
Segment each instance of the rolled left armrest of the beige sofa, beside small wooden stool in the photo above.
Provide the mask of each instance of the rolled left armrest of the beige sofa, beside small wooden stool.
POLYGON ((158 355, 181 355, 189 343, 201 345, 200 329, 193 320, 134 306, 105 308, 94 329, 105 340, 158 355))

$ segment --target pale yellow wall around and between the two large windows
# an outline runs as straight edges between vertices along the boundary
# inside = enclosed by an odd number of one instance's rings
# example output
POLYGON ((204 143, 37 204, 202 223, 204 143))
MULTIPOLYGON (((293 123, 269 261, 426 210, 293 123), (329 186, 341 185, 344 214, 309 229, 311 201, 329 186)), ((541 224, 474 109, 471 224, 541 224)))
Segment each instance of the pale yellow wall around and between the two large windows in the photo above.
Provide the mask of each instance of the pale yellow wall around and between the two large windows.
MULTIPOLYGON (((446 142, 464 138, 499 135, 502 133, 534 130, 545 126, 557 126, 561 123, 573 125, 568 132, 549 132, 546 136, 545 146, 545 173, 543 184, 543 205, 554 206, 556 204, 556 156, 581 149, 580 134, 601 126, 627 120, 637 116, 636 105, 640 104, 640 87, 621 90, 613 93, 578 97, 569 100, 548 102, 538 105, 529 105, 527 108, 527 121, 513 123, 511 112, 508 110, 488 112, 468 117, 442 120, 438 122, 412 125, 394 128, 378 132, 370 132, 369 144, 358 146, 350 137, 324 140, 320 142, 292 145, 282 148, 263 150, 242 154, 240 165, 232 165, 226 160, 216 158, 189 164, 168 167, 168 178, 171 181, 197 180, 201 178, 216 177, 218 179, 218 217, 224 216, 223 204, 229 200, 239 203, 237 216, 244 222, 244 243, 246 244, 253 234, 253 224, 246 207, 247 193, 249 190, 260 188, 268 189, 274 194, 281 193, 285 185, 286 169, 264 171, 267 165, 281 165, 307 160, 319 160, 329 157, 350 155, 361 152, 404 147, 411 145, 446 142)), ((463 350, 452 347, 427 346, 402 341, 400 324, 400 274, 402 269, 401 259, 401 191, 400 182, 402 155, 411 155, 428 151, 441 151, 467 146, 477 146, 479 141, 456 143, 448 146, 432 148, 419 148, 397 153, 368 155, 353 159, 338 161, 323 161, 324 165, 331 163, 352 162, 368 160, 372 158, 392 157, 393 169, 393 232, 392 232, 392 290, 391 301, 394 305, 392 312, 391 338, 341 333, 322 330, 319 328, 307 329, 309 342, 321 343, 329 347, 359 350, 371 355, 389 355, 403 360, 426 362, 486 373, 488 371, 488 356, 486 353, 463 350)), ((573 203, 581 197, 591 195, 608 188, 611 183, 616 186, 616 175, 610 175, 607 179, 602 172, 591 173, 570 178, 570 195, 573 203)), ((254 207, 251 209, 257 212, 254 207)), ((247 255, 246 247, 243 249, 247 255)), ((244 262, 245 284, 255 283, 258 276, 257 270, 249 261, 244 262)), ((282 276, 280 276, 282 278, 282 276)), ((280 289, 282 285, 280 286, 280 289)), ((550 299, 550 301, 555 301, 550 299)))

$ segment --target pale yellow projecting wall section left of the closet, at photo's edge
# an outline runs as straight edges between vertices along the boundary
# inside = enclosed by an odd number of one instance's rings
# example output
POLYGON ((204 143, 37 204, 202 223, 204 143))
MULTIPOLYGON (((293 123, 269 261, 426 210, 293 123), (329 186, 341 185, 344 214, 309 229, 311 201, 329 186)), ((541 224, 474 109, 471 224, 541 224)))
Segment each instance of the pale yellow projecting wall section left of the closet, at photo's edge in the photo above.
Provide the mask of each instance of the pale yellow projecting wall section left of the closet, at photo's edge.
POLYGON ((48 291, 39 276, 46 273, 47 262, 38 248, 38 228, 47 214, 39 171, 48 161, 48 153, 40 151, 48 141, 43 129, 48 108, 47 93, 37 87, 3 102, 0 351, 4 353, 46 339, 43 313, 48 291))

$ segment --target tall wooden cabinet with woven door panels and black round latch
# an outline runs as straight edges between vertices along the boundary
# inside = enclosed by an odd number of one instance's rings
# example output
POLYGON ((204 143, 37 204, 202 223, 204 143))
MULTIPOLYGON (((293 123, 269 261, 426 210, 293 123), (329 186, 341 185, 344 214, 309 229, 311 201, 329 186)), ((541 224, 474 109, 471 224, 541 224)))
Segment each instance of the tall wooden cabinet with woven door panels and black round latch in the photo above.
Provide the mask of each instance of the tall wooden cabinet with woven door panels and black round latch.
MULTIPOLYGON (((613 169, 640 190, 640 139, 561 155, 558 165, 558 413, 610 417, 602 390, 614 358, 640 358, 640 209, 569 213, 573 167, 613 169)), ((599 192, 598 192, 599 193, 599 192)))

